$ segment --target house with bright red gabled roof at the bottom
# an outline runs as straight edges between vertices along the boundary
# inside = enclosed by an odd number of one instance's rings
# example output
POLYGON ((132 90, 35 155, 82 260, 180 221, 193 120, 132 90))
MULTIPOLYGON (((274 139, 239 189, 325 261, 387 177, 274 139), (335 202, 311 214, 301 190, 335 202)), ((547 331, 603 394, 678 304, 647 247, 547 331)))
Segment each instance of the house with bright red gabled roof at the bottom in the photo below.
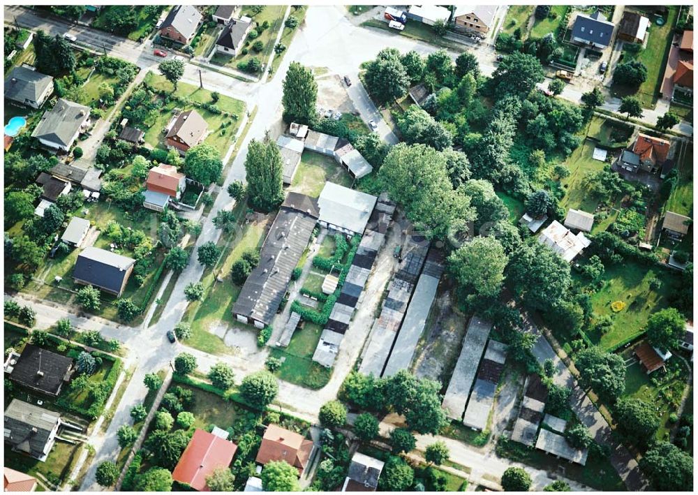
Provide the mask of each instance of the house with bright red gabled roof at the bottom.
POLYGON ((207 476, 218 468, 230 466, 236 451, 235 443, 197 429, 172 471, 172 479, 186 483, 198 492, 210 492, 206 485, 207 476))

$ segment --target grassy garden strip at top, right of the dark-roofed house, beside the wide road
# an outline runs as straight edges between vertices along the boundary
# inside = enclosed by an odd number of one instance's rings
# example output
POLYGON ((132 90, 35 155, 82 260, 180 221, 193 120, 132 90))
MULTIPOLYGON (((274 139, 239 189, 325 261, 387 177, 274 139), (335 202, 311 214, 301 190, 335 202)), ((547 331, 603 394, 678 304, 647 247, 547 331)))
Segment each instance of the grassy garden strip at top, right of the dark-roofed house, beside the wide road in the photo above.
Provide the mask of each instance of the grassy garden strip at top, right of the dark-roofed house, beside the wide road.
POLYGON ((285 5, 243 6, 242 15, 251 17, 255 27, 248 33, 237 57, 216 53, 211 57, 211 63, 254 72, 248 67, 251 59, 256 59, 262 68, 265 67, 274 50, 276 35, 279 34, 279 29, 283 29, 282 21, 286 8, 285 5), (260 8, 262 10, 259 10, 260 8), (260 46, 258 42, 261 43, 261 49, 255 50, 255 45, 260 46))

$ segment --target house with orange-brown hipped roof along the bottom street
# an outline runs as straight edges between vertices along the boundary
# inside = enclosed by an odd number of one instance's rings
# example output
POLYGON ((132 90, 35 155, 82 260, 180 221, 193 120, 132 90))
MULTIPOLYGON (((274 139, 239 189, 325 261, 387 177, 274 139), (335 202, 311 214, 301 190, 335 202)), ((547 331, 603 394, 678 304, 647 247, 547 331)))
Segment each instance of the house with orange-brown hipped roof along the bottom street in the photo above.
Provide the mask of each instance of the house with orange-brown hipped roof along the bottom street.
POLYGON ((276 424, 269 424, 255 460, 262 465, 269 461, 286 461, 297 468, 300 475, 308 465, 312 452, 313 441, 276 424))

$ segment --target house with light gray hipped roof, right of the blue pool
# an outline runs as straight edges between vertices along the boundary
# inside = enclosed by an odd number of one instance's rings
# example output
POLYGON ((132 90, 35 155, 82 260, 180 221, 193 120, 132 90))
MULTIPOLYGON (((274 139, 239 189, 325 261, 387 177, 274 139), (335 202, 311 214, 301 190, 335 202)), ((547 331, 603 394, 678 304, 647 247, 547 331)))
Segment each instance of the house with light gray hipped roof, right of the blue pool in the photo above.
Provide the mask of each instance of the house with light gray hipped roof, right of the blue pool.
POLYGON ((89 107, 59 98, 51 110, 43 114, 32 138, 49 148, 68 152, 80 131, 89 125, 89 107))

